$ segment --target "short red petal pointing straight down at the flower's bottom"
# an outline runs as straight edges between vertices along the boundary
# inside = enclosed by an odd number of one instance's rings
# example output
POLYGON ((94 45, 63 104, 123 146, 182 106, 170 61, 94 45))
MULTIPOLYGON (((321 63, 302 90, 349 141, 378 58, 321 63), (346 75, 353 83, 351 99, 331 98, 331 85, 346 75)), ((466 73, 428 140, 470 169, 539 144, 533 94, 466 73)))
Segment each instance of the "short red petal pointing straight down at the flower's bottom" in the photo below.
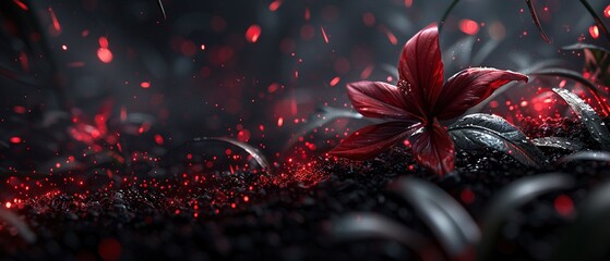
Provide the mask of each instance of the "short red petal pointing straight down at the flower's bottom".
POLYGON ((420 165, 441 176, 453 171, 453 140, 439 121, 434 120, 431 126, 411 136, 409 141, 420 165))

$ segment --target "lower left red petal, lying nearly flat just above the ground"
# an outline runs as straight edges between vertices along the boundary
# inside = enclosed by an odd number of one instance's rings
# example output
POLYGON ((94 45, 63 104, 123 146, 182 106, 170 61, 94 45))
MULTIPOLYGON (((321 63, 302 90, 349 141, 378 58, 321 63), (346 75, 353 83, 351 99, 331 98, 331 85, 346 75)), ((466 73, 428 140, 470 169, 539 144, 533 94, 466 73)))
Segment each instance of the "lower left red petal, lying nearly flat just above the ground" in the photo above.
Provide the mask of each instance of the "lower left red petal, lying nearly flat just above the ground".
POLYGON ((352 160, 366 160, 404 140, 419 128, 421 124, 414 122, 369 125, 349 135, 328 153, 352 160))

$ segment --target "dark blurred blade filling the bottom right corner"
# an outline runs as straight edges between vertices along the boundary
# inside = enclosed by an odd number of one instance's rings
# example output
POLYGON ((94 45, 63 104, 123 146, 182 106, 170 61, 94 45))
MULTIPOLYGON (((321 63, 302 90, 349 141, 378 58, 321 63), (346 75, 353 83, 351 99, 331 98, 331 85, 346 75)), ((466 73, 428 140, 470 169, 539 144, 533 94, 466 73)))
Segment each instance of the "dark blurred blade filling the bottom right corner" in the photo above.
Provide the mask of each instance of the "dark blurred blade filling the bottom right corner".
POLYGON ((576 209, 577 217, 553 247, 549 260, 603 260, 610 249, 610 183, 595 188, 576 209))

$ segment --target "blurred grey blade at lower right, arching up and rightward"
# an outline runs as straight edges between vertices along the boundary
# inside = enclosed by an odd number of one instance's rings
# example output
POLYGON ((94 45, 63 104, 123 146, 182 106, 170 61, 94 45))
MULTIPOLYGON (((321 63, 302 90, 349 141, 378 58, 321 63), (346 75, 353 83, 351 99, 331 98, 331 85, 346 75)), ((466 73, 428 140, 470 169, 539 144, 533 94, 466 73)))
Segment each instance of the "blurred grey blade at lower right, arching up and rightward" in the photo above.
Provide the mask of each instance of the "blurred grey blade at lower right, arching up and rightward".
POLYGON ((513 211, 547 192, 569 189, 575 181, 567 174, 548 173, 521 178, 502 188, 489 202, 482 217, 482 237, 477 247, 477 260, 490 259, 498 246, 498 236, 513 211))

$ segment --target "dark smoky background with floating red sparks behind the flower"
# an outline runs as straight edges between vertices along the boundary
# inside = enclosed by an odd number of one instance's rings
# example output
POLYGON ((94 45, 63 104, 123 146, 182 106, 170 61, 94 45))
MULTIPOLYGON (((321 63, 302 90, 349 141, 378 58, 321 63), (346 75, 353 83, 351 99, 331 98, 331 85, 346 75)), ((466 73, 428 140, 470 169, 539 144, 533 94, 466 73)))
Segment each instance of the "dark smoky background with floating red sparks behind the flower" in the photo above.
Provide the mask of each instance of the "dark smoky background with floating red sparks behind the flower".
MULTIPOLYGON (((525 0, 459 1, 441 33, 445 75, 551 59, 581 71, 579 54, 561 47, 608 46, 579 1, 533 2, 551 44, 525 0)), ((608 24, 609 2, 589 2, 608 24)), ((452 1, 162 3, 167 18, 156 0, 3 1, 1 140, 37 128, 56 151, 67 137, 45 129, 104 115, 137 122, 151 133, 144 144, 223 136, 277 156, 318 108, 349 108, 346 83, 395 83, 404 42, 452 1)))

